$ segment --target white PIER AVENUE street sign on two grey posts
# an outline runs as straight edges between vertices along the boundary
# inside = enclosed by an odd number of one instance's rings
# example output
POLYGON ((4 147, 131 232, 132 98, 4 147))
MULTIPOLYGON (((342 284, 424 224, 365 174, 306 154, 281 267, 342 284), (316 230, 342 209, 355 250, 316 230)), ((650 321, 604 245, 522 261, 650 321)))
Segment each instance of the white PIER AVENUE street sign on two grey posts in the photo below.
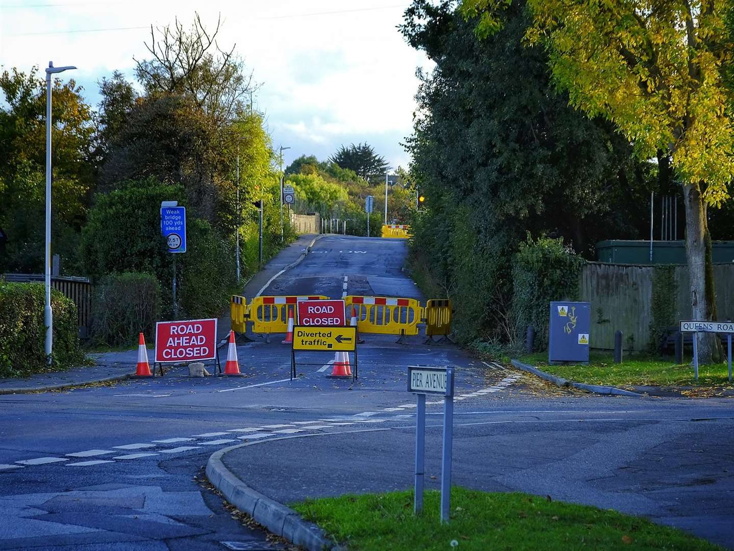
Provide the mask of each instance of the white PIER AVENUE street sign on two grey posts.
POLYGON ((415 418, 415 495, 413 511, 423 510, 424 465, 426 446, 426 394, 443 395, 443 453, 441 456, 441 522, 448 522, 451 512, 451 450, 454 440, 454 367, 408 366, 408 392, 417 396, 415 418))

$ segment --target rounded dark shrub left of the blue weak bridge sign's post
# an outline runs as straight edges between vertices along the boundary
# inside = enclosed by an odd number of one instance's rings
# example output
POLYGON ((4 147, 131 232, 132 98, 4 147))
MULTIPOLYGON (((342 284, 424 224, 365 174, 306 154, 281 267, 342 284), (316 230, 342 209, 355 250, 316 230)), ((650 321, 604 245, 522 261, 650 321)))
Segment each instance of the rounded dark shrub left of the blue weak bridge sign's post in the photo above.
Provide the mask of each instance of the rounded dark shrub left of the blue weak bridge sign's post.
POLYGON ((150 274, 124 272, 104 277, 92 301, 92 338, 110 346, 148 342, 161 310, 161 285, 150 274))

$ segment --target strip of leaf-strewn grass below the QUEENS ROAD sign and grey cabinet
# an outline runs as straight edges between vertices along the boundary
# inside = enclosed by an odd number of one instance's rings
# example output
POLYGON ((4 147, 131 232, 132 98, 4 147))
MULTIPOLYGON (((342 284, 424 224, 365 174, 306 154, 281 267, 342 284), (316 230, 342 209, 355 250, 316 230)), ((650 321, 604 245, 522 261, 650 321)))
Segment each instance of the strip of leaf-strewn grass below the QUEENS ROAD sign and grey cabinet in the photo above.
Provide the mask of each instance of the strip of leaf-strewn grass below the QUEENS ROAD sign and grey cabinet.
POLYGON ((661 387, 731 386, 727 362, 700 365, 698 382, 694 380, 693 365, 675 365, 672 359, 650 357, 645 354, 625 355, 622 364, 615 364, 610 353, 592 352, 589 365, 548 365, 548 353, 527 354, 520 362, 553 373, 570 381, 607 384, 615 387, 650 384, 661 387))

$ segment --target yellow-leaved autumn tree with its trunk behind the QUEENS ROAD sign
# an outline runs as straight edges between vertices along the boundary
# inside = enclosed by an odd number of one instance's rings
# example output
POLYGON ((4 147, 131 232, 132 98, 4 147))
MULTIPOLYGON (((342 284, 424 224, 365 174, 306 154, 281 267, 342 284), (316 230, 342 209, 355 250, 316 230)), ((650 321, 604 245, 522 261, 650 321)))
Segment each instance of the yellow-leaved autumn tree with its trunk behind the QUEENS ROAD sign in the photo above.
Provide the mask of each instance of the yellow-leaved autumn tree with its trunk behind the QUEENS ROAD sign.
MULTIPOLYGON (((481 37, 502 26, 509 0, 463 0, 479 15, 481 37)), ((633 143, 639 158, 671 158, 683 187, 691 309, 711 319, 713 280, 705 268, 707 208, 729 198, 734 177, 731 112, 722 68, 732 37, 715 0, 528 0, 530 44, 549 52, 553 82, 570 104, 603 116, 633 143), (706 288, 709 288, 707 296, 706 288)), ((713 336, 700 348, 710 360, 713 336)))

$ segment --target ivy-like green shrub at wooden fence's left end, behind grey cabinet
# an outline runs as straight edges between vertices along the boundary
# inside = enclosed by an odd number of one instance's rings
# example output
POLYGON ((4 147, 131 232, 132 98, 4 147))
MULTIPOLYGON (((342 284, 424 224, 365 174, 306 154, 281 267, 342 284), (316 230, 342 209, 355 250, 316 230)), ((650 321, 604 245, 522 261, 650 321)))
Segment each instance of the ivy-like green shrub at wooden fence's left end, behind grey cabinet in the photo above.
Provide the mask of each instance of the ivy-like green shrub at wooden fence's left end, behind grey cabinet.
POLYGON ((578 279, 584 260, 563 245, 563 238, 528 235, 515 254, 512 279, 512 315, 517 335, 528 325, 535 328, 536 348, 548 345, 548 303, 578 298, 578 279))

